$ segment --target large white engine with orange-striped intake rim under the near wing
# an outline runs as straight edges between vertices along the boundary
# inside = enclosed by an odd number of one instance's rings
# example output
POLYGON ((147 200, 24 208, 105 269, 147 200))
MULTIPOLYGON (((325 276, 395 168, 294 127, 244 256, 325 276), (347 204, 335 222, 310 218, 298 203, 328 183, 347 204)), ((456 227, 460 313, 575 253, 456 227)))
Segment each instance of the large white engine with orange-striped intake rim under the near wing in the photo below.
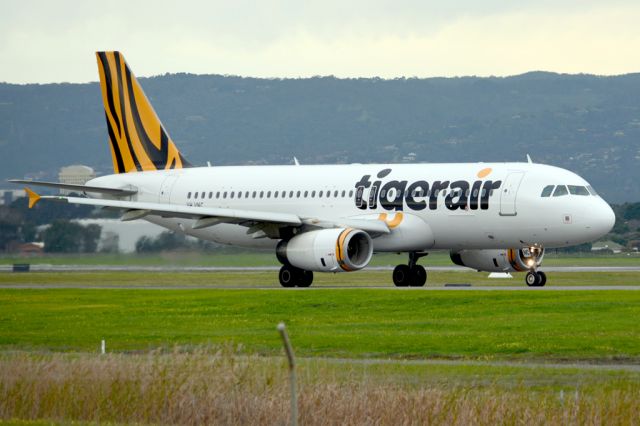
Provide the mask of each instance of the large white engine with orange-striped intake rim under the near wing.
POLYGON ((280 241, 276 255, 283 264, 307 271, 350 272, 369 264, 373 243, 359 229, 322 229, 280 241))

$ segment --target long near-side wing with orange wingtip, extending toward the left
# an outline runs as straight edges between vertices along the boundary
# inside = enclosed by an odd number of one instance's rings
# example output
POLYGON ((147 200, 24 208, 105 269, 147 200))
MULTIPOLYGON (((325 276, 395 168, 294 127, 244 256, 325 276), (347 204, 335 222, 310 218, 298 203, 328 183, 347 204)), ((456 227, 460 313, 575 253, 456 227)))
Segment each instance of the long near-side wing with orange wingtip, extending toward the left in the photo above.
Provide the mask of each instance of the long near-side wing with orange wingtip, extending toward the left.
POLYGON ((216 207, 194 207, 177 204, 149 203, 140 201, 105 200, 99 198, 67 197, 61 195, 40 196, 25 188, 29 196, 29 207, 33 207, 39 200, 53 200, 72 204, 83 204, 96 207, 108 207, 124 210, 122 220, 141 219, 154 215, 161 217, 176 217, 193 219, 196 222, 193 229, 206 228, 218 223, 236 223, 254 226, 256 224, 275 224, 280 226, 308 225, 318 228, 353 227, 366 232, 389 233, 384 221, 349 219, 322 220, 318 218, 300 218, 290 213, 266 212, 257 210, 239 210, 216 207))

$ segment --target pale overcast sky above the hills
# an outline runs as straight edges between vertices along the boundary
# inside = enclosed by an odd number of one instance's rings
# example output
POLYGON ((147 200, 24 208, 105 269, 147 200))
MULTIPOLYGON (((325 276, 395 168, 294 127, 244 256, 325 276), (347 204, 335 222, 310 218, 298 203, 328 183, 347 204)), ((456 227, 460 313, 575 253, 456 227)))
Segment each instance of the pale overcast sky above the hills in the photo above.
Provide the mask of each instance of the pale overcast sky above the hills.
POLYGON ((12 83, 96 81, 96 50, 120 50, 138 76, 640 71, 638 0, 20 0, 1 10, 0 81, 12 83))

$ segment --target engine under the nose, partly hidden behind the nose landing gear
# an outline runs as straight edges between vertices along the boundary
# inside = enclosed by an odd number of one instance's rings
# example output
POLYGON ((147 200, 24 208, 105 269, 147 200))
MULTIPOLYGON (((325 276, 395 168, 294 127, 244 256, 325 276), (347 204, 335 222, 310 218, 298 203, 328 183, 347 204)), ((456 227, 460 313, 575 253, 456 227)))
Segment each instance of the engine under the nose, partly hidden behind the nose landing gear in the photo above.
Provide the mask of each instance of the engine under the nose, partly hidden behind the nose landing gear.
POLYGON ((521 272, 536 269, 542 263, 544 249, 524 247, 506 250, 461 250, 451 252, 456 265, 487 272, 521 272))

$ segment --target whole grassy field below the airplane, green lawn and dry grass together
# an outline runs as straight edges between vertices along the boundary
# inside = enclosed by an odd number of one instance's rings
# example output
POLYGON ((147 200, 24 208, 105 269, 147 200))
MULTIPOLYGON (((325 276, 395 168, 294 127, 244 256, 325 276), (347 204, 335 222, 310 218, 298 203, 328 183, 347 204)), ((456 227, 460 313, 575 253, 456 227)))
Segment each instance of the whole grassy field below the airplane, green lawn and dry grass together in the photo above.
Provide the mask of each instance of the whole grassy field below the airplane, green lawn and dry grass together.
MULTIPOLYGON (((430 275, 447 282, 496 285, 430 275)), ((388 272, 319 274, 319 290, 280 289, 273 272, 4 273, 0 285, 14 287, 0 288, 0 424, 285 424, 280 321, 302 357, 301 424, 640 422, 640 291, 395 289, 388 272), (327 288, 372 285, 386 288, 327 288)))

